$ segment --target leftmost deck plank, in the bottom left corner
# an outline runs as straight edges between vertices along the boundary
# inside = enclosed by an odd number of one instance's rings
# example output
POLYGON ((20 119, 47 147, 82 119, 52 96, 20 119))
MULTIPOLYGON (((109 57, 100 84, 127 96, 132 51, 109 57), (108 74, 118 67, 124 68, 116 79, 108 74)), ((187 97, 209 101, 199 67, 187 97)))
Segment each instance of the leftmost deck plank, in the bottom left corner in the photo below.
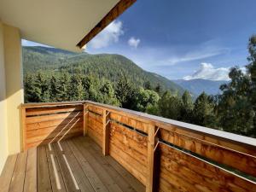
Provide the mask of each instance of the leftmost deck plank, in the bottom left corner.
POLYGON ((3 172, 0 177, 1 191, 3 192, 9 191, 9 185, 11 183, 13 173, 15 170, 17 156, 17 154, 9 155, 9 157, 6 160, 5 166, 3 167, 3 172))

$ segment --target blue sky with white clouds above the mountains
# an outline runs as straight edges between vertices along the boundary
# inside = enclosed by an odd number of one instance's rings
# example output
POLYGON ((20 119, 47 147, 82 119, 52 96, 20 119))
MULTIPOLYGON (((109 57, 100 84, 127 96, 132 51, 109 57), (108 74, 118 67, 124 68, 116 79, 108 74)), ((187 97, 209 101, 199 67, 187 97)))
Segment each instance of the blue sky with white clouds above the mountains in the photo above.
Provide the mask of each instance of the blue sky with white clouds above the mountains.
POLYGON ((255 8, 255 0, 137 0, 86 51, 125 55, 168 79, 228 79, 230 67, 247 64, 255 8))

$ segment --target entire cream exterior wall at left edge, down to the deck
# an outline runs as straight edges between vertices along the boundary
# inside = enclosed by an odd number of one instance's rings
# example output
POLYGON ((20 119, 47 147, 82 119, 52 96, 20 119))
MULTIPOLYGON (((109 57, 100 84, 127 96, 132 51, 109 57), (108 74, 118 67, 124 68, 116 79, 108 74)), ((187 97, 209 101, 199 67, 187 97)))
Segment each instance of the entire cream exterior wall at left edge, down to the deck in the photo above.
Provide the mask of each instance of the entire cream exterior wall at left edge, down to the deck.
POLYGON ((22 85, 21 39, 18 28, 0 20, 0 173, 9 154, 20 152, 22 85))

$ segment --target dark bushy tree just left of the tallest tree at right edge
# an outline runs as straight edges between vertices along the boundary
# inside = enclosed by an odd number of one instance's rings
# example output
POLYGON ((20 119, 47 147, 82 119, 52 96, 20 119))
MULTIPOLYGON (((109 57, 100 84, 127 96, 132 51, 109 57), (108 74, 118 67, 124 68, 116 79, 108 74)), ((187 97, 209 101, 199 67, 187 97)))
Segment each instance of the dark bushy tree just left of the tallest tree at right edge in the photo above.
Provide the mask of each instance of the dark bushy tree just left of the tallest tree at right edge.
POLYGON ((238 67, 230 69, 230 83, 220 86, 218 96, 218 120, 224 131, 253 135, 253 105, 250 101, 250 78, 238 67))

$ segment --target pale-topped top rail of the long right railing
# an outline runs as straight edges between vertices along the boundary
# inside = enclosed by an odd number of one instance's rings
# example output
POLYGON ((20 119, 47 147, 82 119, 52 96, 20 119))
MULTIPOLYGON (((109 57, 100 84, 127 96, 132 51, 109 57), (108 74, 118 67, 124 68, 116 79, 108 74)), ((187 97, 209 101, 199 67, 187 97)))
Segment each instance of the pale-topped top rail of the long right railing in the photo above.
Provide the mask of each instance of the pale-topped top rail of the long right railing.
POLYGON ((244 136, 237 135, 237 134, 230 133, 230 132, 226 132, 226 131, 219 131, 219 130, 215 130, 215 129, 212 129, 212 128, 207 128, 207 127, 200 126, 200 125, 192 125, 192 124, 189 124, 189 123, 184 123, 184 122, 177 121, 177 120, 172 120, 172 119, 166 119, 166 118, 155 116, 155 115, 148 114, 148 113, 133 111, 133 110, 130 110, 130 109, 113 107, 113 106, 110 106, 110 105, 107 105, 107 104, 102 104, 102 103, 99 103, 99 102, 85 101, 85 103, 96 105, 96 106, 102 107, 102 108, 112 109, 112 110, 123 112, 123 113, 130 113, 132 115, 136 115, 136 116, 139 116, 140 118, 148 119, 148 120, 151 120, 151 121, 154 121, 154 122, 176 125, 176 126, 182 128, 182 129, 201 132, 202 134, 205 134, 205 135, 218 137, 218 138, 223 138, 223 139, 228 139, 228 140, 230 140, 232 142, 235 142, 235 143, 242 143, 242 144, 246 144, 246 145, 249 145, 249 146, 252 146, 252 147, 256 147, 256 139, 252 138, 252 137, 244 137, 244 136))

